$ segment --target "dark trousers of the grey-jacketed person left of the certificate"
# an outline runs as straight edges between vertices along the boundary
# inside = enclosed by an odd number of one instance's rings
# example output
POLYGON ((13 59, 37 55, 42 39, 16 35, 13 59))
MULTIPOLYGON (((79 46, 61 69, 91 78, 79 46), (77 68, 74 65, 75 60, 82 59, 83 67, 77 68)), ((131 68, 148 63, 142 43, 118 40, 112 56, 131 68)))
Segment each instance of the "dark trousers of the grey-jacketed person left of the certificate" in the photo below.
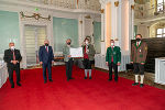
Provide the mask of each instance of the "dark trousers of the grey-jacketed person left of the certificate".
POLYGON ((66 65, 66 77, 67 79, 72 78, 72 73, 73 73, 73 58, 70 58, 68 62, 65 62, 66 65))

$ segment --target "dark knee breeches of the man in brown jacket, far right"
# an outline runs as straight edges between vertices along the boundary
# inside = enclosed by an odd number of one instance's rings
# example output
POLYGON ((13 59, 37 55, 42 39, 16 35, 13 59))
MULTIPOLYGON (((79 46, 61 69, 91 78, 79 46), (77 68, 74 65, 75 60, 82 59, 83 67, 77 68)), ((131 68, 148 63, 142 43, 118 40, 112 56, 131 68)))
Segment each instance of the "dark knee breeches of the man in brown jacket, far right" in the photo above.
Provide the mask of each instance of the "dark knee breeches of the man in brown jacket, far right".
POLYGON ((133 70, 134 74, 144 75, 144 65, 142 65, 141 63, 134 63, 133 67, 134 67, 133 70))

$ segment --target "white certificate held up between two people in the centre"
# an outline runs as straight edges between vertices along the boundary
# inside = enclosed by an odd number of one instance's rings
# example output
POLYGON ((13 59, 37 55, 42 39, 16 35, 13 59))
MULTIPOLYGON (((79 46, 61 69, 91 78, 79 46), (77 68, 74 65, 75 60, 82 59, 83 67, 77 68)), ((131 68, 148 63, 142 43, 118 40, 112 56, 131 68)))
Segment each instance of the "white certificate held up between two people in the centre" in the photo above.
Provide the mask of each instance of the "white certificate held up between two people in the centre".
POLYGON ((82 47, 73 48, 70 47, 72 57, 84 57, 82 47))

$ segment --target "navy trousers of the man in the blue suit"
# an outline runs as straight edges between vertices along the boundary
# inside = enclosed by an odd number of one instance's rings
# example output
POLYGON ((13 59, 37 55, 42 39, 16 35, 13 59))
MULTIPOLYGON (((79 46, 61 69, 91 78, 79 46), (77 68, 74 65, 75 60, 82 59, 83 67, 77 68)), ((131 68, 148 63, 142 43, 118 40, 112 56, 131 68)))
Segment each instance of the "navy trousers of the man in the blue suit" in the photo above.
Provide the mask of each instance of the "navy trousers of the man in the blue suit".
POLYGON ((52 79, 52 63, 43 63, 43 77, 44 77, 44 80, 47 80, 47 77, 46 77, 46 68, 47 68, 47 72, 48 72, 48 79, 52 79))

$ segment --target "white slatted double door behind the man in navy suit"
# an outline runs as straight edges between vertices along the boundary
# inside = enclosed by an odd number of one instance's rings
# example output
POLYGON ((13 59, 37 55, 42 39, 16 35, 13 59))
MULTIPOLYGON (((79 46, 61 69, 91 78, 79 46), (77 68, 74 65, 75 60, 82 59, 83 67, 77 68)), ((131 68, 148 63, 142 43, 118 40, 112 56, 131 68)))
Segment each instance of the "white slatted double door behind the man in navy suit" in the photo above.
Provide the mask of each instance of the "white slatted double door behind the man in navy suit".
POLYGON ((25 25, 26 65, 38 64, 38 48, 46 38, 46 26, 25 25))

